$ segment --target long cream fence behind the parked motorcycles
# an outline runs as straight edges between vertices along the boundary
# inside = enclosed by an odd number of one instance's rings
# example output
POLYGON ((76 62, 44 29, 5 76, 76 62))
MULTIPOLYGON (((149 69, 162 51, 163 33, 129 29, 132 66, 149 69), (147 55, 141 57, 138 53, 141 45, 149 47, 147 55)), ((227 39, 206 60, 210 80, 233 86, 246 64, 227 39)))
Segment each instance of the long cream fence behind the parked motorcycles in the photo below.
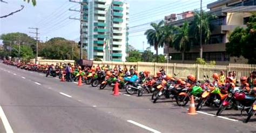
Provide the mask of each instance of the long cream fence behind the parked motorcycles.
POLYGON ((225 71, 226 75, 229 71, 235 71, 237 77, 242 76, 249 77, 250 73, 256 70, 255 64, 228 64, 228 65, 199 65, 199 64, 178 64, 178 63, 152 63, 152 62, 98 62, 93 61, 95 67, 97 65, 110 65, 114 68, 115 65, 120 65, 122 68, 124 65, 129 69, 130 66, 136 65, 138 71, 150 71, 151 75, 156 74, 161 67, 164 67, 167 74, 173 75, 173 73, 178 74, 179 78, 186 78, 188 75, 194 75, 198 80, 202 80, 204 75, 212 77, 213 73, 220 73, 220 71, 225 71))

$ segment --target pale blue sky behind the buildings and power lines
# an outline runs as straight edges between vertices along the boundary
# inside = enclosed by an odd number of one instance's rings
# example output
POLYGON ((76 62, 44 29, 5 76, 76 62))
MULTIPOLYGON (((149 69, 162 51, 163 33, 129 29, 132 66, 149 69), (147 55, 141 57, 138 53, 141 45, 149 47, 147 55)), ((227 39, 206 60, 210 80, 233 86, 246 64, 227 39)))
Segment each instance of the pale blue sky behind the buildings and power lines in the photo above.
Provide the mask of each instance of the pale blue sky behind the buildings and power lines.
MULTIPOLYGON (((69 19, 69 17, 79 18, 79 12, 69 11, 69 8, 79 10, 78 4, 69 0, 37 0, 37 5, 34 7, 23 0, 4 1, 8 3, 0 2, 0 16, 20 9, 21 5, 25 8, 12 16, 0 19, 0 34, 22 32, 33 36, 34 34, 29 32, 35 30, 29 27, 38 27, 39 38, 42 41, 54 37, 79 41, 79 20, 69 19)), ((129 44, 138 50, 149 47, 144 32, 151 28, 150 23, 158 23, 164 19, 164 16, 172 13, 200 9, 200 0, 125 0, 125 2, 130 4, 129 44)), ((203 0, 203 9, 206 10, 206 5, 212 2, 214 1, 203 0)), ((151 50, 155 53, 153 47, 151 50)), ((160 48, 159 54, 163 53, 163 48, 160 48)))

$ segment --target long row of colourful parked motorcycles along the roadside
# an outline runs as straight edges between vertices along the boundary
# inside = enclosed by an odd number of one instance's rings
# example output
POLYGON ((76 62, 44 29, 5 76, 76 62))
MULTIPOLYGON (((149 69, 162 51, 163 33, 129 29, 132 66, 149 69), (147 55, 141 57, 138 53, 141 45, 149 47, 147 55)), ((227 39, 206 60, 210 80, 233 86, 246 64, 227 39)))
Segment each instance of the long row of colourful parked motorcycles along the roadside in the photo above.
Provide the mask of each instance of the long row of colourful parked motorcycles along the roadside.
MULTIPOLYGON (((44 65, 21 64, 4 61, 6 64, 16 65, 18 68, 49 73, 44 65)), ((55 71, 56 74, 50 74, 53 77, 65 76, 63 69, 55 71)), ((137 72, 129 71, 120 73, 114 70, 96 70, 90 69, 80 71, 76 69, 72 72, 73 80, 82 77, 85 84, 91 84, 92 87, 98 87, 102 90, 106 86, 114 87, 116 83, 119 89, 124 89, 128 94, 137 94, 141 97, 144 93, 152 93, 151 100, 156 103, 161 97, 176 100, 178 106, 186 106, 193 95, 198 102, 196 110, 201 110, 205 106, 218 108, 216 115, 221 115, 224 110, 235 109, 247 113, 247 123, 256 111, 256 79, 253 80, 253 86, 235 85, 232 79, 226 80, 226 83, 220 83, 216 73, 213 74, 214 81, 210 77, 204 76, 204 80, 196 80, 193 75, 187 76, 187 79, 181 80, 174 76, 165 75, 164 71, 157 72, 157 75, 150 76, 148 71, 137 72), (215 76, 215 77, 214 77, 215 76), (246 89, 245 89, 246 88, 246 89)), ((242 82, 242 80, 241 80, 242 82)))

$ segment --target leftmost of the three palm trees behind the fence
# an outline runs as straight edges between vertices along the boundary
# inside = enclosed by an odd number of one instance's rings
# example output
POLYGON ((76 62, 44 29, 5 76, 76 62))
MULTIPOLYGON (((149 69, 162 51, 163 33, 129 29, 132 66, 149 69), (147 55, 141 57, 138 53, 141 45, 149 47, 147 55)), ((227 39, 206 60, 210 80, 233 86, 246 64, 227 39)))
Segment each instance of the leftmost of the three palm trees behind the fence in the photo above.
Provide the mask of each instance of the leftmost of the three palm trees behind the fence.
POLYGON ((153 28, 147 29, 147 31, 144 33, 147 38, 147 43, 149 43, 150 46, 154 47, 154 50, 156 50, 157 54, 157 62, 158 62, 158 48, 164 46, 164 32, 163 32, 163 26, 164 26, 164 20, 161 20, 158 24, 151 23, 150 24, 153 28))

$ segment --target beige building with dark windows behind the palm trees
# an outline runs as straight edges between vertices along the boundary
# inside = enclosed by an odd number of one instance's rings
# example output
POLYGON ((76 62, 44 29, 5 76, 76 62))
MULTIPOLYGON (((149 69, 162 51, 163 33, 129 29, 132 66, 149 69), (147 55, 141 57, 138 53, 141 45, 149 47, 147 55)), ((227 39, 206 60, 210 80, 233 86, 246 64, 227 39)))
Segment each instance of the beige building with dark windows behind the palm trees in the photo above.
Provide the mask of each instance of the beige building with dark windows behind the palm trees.
MULTIPOLYGON (((228 36, 234 31, 235 27, 246 27, 249 17, 256 11, 256 0, 222 0, 207 5, 210 9, 208 13, 214 14, 218 18, 211 21, 214 26, 210 41, 203 45, 203 58, 206 61, 216 61, 218 64, 245 63, 244 58, 230 57, 226 53, 226 43, 228 36)), ((167 25, 182 26, 185 21, 189 23, 193 20, 190 12, 181 14, 171 14, 165 17, 167 25)), ((173 48, 164 48, 164 53, 172 56, 171 62, 181 62, 181 54, 173 48)), ((185 63, 194 63, 199 57, 199 44, 192 46, 191 50, 185 53, 185 63)))

